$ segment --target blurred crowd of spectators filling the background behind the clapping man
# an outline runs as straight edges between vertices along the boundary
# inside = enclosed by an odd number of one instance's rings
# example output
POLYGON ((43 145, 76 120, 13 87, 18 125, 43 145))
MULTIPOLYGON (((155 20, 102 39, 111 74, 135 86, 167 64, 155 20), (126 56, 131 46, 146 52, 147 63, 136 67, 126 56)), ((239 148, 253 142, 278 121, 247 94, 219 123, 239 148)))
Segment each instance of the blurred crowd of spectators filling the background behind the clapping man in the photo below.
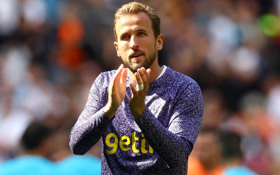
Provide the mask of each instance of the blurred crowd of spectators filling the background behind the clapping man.
MULTIPOLYGON (((122 63, 113 17, 127 2, 0 0, 0 166, 28 154, 22 140, 35 121, 52 131, 36 154, 52 162, 72 155, 70 131, 93 81, 122 63)), ((138 2, 161 18, 159 64, 190 76, 203 92, 189 166, 201 174, 237 165, 279 174, 280 0, 138 2), (235 148, 224 154, 225 143, 235 148)), ((100 147, 87 154, 101 157, 100 147)))

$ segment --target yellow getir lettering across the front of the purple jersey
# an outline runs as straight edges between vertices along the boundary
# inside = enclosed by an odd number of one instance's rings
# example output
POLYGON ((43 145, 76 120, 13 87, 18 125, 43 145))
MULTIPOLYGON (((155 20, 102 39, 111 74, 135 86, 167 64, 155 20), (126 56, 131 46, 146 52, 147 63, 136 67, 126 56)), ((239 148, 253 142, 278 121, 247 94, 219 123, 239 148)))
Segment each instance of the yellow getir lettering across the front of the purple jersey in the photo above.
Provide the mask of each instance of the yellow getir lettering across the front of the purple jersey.
MULTIPOLYGON (((143 137, 143 139, 141 140, 141 152, 142 153, 147 153, 148 150, 146 150, 146 148, 145 148, 145 146, 146 146, 146 144, 145 144, 146 139, 144 138, 144 134, 143 133, 141 134, 141 136, 143 137)), ((131 141, 132 146, 131 147, 132 147, 133 152, 134 153, 139 153, 139 149, 137 149, 136 146, 135 146, 135 142, 139 139, 139 137, 135 136, 135 132, 132 132, 131 139, 132 139, 132 141, 131 141)), ((107 146, 113 148, 112 150, 106 149, 106 153, 107 154, 115 153, 117 148, 118 148, 118 145, 120 146, 120 149, 123 150, 123 151, 130 150, 130 147, 125 147, 124 146, 124 145, 129 145, 130 144, 130 139, 126 135, 121 136, 120 137, 120 142, 119 142, 119 139, 118 139, 117 135, 115 133, 110 133, 110 134, 108 134, 106 136, 105 142, 106 142, 107 146), (115 139, 113 143, 110 142, 111 137, 113 137, 115 139)), ((149 153, 153 153, 153 148, 150 145, 149 145, 149 153)))

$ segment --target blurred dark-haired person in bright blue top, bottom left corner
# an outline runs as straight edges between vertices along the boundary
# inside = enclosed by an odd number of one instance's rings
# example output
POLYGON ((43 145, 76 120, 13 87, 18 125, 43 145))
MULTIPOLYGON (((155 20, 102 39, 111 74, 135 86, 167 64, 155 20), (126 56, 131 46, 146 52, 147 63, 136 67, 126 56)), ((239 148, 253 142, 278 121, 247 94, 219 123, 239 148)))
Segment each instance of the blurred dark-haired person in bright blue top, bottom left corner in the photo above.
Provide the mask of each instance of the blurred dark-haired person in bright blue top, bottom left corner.
POLYGON ((51 130, 33 122, 22 136, 24 153, 0 164, 0 174, 54 174, 48 156, 51 130))

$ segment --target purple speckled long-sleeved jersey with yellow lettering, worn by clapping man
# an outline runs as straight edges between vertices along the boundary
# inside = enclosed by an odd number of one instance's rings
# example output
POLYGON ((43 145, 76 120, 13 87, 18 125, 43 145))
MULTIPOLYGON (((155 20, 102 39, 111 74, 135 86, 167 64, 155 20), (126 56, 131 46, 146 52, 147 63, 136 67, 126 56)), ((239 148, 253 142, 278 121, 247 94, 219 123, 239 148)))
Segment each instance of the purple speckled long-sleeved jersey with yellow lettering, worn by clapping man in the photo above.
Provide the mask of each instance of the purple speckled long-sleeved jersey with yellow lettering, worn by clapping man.
POLYGON ((71 131, 74 154, 85 154, 102 137, 101 174, 187 174, 188 155, 199 133, 202 93, 190 77, 169 67, 149 84, 146 109, 135 121, 126 97, 113 119, 104 113, 115 71, 101 73, 71 131))

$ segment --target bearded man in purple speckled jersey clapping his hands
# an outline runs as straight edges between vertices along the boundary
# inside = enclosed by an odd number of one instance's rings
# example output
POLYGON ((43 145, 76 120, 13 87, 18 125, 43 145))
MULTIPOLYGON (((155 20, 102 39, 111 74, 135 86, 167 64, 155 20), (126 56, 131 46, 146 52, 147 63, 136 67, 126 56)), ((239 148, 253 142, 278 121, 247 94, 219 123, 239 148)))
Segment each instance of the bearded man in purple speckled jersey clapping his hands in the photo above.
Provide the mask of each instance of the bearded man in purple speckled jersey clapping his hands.
POLYGON ((71 150, 85 154, 102 137, 101 174, 186 174, 202 120, 199 86, 158 65, 163 35, 149 6, 123 5, 114 33, 128 69, 97 77, 71 131, 71 150))

